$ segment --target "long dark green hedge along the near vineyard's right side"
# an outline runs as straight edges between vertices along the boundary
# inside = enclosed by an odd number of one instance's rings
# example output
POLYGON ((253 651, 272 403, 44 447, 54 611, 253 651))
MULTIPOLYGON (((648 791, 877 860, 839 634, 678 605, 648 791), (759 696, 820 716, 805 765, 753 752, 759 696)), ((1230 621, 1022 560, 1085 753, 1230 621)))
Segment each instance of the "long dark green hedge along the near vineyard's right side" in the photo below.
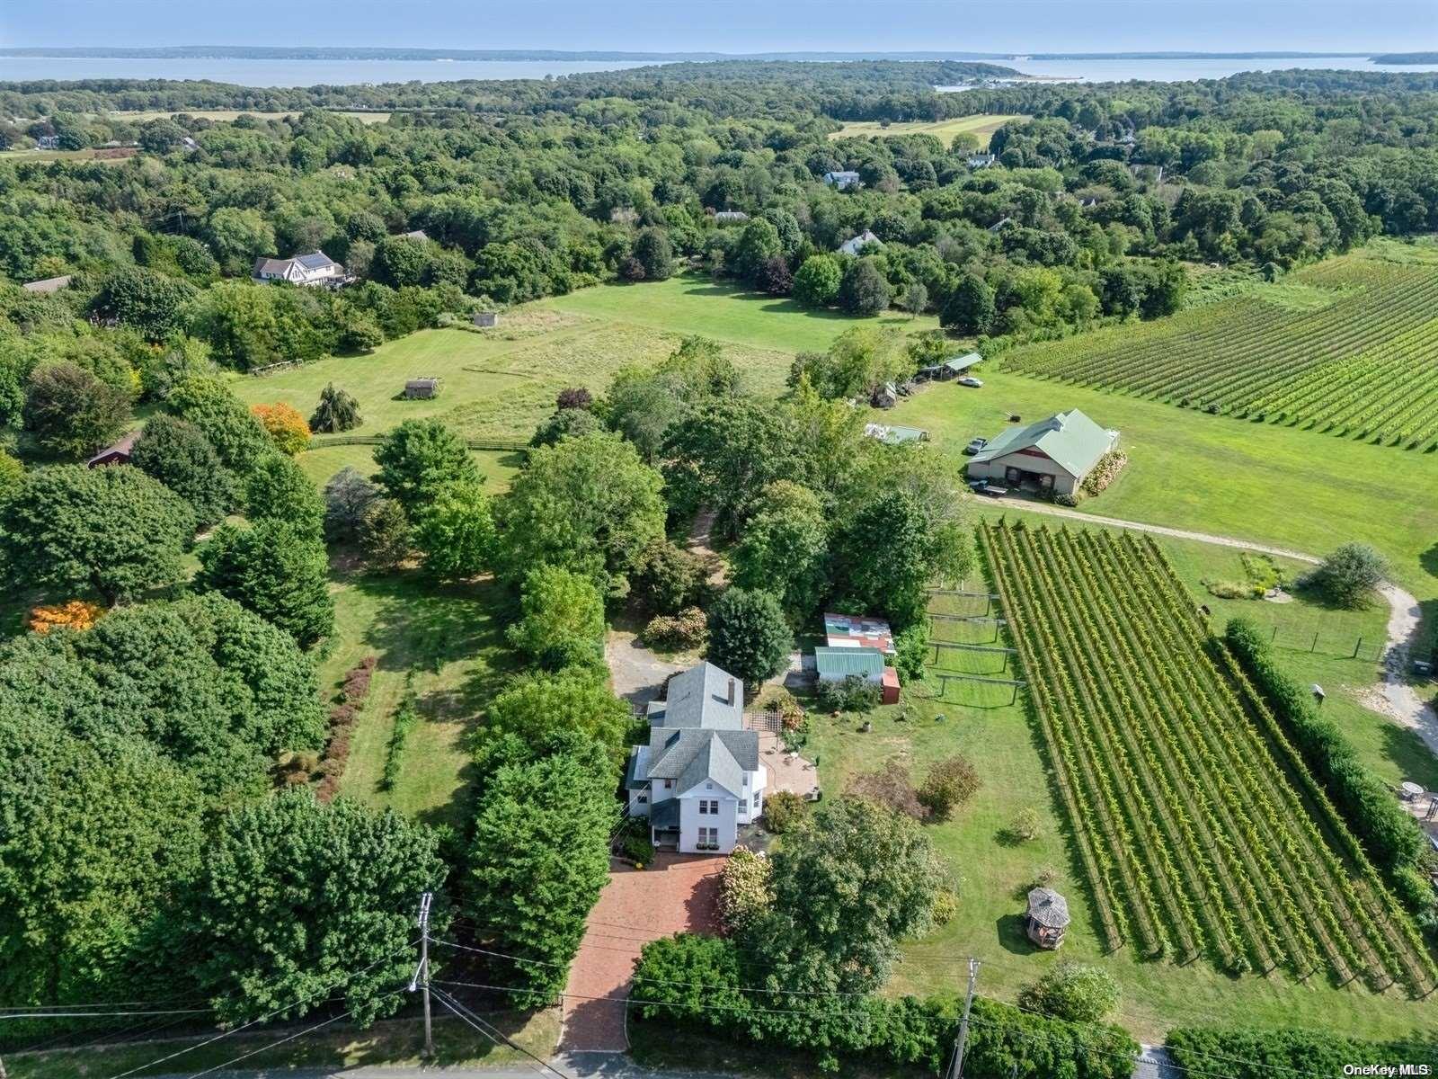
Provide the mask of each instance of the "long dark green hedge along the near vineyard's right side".
MULTIPOLYGON (((1273 705, 1303 760, 1347 819, 1376 865, 1398 873, 1405 901, 1421 902, 1406 886, 1409 870, 1426 846, 1424 833, 1392 793, 1359 761, 1347 739, 1319 715, 1313 695, 1278 670, 1263 630, 1248 619, 1232 619, 1224 634, 1244 670, 1273 705)), ((1431 896, 1429 896, 1431 902, 1431 896)))

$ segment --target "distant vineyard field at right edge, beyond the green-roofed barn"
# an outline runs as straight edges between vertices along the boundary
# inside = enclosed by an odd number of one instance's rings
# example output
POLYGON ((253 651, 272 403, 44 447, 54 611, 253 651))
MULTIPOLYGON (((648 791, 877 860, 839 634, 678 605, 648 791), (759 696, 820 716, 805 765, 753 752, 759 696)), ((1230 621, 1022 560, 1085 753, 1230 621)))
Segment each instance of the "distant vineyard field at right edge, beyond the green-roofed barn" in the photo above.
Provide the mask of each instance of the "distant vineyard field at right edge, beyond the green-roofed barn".
POLYGON ((1245 293, 1021 347, 1004 365, 1241 419, 1438 447, 1438 265, 1353 253, 1293 281, 1322 306, 1284 308, 1274 302, 1284 286, 1274 286, 1268 298, 1245 293))

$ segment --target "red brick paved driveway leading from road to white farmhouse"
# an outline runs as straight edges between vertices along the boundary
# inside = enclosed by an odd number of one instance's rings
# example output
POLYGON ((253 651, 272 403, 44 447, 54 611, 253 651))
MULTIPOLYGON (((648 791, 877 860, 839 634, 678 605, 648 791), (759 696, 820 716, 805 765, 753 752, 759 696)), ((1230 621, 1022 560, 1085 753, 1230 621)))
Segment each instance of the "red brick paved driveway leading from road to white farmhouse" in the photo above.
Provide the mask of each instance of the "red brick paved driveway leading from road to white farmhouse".
POLYGON ((624 997, 640 948, 684 929, 718 932, 723 863, 723 857, 669 853, 644 869, 614 863, 569 970, 562 1052, 628 1047, 624 997))

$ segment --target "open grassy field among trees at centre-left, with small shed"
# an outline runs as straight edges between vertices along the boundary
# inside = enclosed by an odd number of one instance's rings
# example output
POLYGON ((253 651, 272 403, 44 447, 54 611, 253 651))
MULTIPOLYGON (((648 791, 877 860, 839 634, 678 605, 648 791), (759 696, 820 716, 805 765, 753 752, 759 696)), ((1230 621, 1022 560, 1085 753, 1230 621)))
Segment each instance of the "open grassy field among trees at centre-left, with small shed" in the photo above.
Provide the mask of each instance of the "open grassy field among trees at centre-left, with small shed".
MULTIPOLYGON (((938 325, 932 317, 877 321, 906 332, 938 325)), ((329 357, 263 378, 236 375, 232 388, 249 404, 285 401, 308 416, 332 381, 360 400, 365 422, 357 434, 437 417, 466 437, 528 439, 564 387, 598 396, 621 367, 657 364, 687 335, 719 341, 752 391, 777 394, 795 352, 824 350, 861 322, 683 275, 529 304, 493 329, 424 329, 367 355, 329 357), (443 380, 439 397, 404 399, 406 380, 420 375, 443 380)))

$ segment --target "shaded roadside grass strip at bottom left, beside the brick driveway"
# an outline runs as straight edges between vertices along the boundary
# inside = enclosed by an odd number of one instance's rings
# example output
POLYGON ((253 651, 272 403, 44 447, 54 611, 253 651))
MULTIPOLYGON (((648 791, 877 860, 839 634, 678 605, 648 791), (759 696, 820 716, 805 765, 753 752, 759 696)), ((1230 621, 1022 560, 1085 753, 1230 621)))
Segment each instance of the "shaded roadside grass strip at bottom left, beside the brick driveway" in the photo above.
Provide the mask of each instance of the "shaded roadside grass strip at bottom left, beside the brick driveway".
MULTIPOLYGON (((493 1042, 444 1014, 440 1006, 434 1017, 434 1052, 437 1065, 456 1067, 522 1067, 529 1057, 493 1042)), ((557 1009, 536 1013, 489 1013, 485 1016, 502 1030, 515 1044, 535 1053, 549 1056, 559 1040, 559 1014, 557 1009)), ((295 1027, 303 1030, 303 1026, 295 1027)), ((283 1073, 295 1067, 362 1067, 365 1065, 391 1065, 417 1067, 424 1049, 424 1026, 418 1014, 375 1023, 370 1030, 345 1029, 342 1024, 305 1034, 283 1046, 265 1050, 283 1032, 236 1034, 203 1049, 178 1056, 167 1065, 148 1067, 154 1060, 193 1046, 201 1039, 188 1042, 147 1042, 128 1046, 92 1046, 75 1050, 53 1050, 47 1053, 7 1053, 10 1075, 26 1079, 98 1079, 137 1069, 135 1075, 174 1075, 220 1067, 236 1057, 256 1052, 239 1067, 257 1073, 283 1073)))

